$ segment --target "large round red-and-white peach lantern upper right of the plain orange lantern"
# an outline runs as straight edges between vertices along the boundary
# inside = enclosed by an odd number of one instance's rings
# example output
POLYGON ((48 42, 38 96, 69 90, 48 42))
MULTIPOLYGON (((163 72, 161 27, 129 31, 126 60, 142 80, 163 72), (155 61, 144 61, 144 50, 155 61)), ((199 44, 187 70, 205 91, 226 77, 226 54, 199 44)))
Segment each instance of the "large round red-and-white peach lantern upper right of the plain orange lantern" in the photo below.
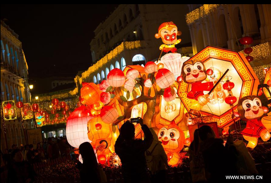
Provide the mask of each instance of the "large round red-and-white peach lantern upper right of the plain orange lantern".
POLYGON ((112 87, 120 87, 125 82, 124 73, 118 68, 112 69, 107 75, 107 81, 112 87))

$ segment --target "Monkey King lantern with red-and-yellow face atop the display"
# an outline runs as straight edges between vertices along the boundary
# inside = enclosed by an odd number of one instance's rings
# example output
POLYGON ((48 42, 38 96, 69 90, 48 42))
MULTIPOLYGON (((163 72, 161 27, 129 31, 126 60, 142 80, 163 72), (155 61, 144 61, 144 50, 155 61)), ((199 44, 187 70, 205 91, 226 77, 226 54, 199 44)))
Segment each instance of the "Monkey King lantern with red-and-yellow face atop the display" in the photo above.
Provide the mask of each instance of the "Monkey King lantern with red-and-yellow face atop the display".
POLYGON ((175 45, 181 42, 181 39, 177 39, 177 36, 181 34, 182 32, 178 31, 177 26, 173 22, 164 22, 161 24, 155 37, 157 39, 161 38, 165 44, 162 44, 159 49, 163 49, 164 52, 171 51, 175 53, 177 51, 175 45))

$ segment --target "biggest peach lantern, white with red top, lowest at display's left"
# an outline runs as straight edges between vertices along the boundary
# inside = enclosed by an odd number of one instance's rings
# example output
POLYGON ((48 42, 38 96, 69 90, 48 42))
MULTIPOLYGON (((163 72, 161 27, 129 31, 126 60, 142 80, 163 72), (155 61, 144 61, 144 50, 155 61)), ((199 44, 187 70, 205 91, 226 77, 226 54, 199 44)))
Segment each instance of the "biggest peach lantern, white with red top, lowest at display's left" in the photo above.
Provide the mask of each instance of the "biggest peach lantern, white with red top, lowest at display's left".
POLYGON ((66 124, 66 136, 68 143, 79 148, 83 142, 91 142, 88 138, 87 123, 93 118, 86 106, 75 109, 68 117, 66 124))

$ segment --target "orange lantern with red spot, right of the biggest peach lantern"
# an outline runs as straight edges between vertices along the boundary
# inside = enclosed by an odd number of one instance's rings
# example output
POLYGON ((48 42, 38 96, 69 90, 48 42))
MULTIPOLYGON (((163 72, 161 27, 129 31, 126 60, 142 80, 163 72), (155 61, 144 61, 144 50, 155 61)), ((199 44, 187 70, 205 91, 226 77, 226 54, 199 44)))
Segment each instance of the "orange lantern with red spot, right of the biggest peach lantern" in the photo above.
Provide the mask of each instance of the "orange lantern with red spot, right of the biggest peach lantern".
POLYGON ((100 140, 106 140, 111 134, 111 125, 104 123, 100 116, 90 119, 87 129, 88 138, 95 147, 98 147, 100 140))

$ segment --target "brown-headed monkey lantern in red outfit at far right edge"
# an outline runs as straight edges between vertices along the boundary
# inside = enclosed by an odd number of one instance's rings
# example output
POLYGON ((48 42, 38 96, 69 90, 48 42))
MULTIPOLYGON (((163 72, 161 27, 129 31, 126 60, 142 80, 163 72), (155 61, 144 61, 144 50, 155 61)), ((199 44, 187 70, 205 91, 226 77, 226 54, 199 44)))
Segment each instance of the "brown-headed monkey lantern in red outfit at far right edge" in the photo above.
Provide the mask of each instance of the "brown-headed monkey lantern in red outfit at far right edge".
POLYGON ((241 132, 244 139, 248 141, 247 147, 252 149, 256 147, 259 137, 263 141, 269 140, 271 137, 269 133, 271 131, 271 128, 269 128, 270 117, 265 116, 261 120, 258 120, 268 112, 267 107, 262 106, 259 97, 252 95, 241 98, 237 106, 237 111, 234 115, 241 120, 247 121, 246 128, 241 132))

